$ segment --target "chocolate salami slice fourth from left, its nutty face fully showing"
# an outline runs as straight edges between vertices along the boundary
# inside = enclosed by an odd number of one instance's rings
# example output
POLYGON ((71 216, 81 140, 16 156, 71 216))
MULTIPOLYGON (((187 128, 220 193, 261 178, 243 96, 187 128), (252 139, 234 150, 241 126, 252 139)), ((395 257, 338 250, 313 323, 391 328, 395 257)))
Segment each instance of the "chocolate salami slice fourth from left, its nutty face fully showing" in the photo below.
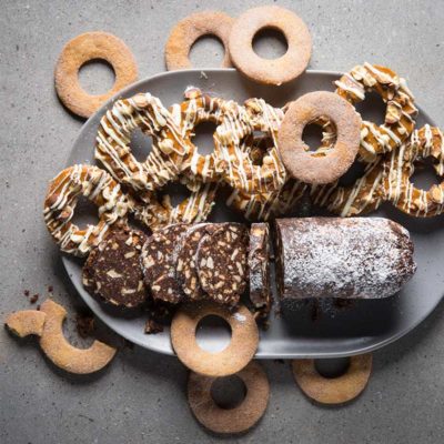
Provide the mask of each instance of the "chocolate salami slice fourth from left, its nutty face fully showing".
POLYGON ((248 230, 221 224, 198 248, 198 275, 202 290, 219 303, 234 305, 246 286, 248 230))

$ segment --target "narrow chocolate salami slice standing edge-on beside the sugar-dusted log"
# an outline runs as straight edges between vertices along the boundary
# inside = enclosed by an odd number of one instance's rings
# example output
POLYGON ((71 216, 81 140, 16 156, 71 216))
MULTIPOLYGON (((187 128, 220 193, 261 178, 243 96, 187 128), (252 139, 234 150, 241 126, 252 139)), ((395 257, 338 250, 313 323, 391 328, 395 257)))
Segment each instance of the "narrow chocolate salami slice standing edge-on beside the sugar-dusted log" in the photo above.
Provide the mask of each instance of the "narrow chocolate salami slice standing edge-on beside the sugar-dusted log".
POLYGON ((249 245, 250 300, 261 317, 270 313, 270 229, 268 223, 252 223, 249 245))

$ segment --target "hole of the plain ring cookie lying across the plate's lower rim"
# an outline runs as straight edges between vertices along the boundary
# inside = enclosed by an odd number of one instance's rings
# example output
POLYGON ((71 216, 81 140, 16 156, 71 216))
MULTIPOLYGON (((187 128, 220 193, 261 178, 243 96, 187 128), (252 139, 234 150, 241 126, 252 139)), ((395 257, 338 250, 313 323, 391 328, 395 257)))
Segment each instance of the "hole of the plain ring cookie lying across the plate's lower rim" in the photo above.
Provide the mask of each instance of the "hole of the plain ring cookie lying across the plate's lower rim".
POLYGON ((230 344, 231 326, 220 316, 205 316, 195 329, 195 339, 198 345, 205 352, 222 352, 230 344))

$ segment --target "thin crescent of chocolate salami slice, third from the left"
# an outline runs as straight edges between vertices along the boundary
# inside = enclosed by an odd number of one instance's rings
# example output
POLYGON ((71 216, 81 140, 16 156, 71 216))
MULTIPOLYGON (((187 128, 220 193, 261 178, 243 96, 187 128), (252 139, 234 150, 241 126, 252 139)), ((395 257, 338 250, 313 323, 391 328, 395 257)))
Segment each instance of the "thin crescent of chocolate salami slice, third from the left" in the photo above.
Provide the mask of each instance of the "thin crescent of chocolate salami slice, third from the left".
POLYGON ((200 285, 196 268, 196 254, 202 238, 213 232, 219 226, 212 223, 201 223, 191 226, 182 238, 182 245, 178 254, 175 275, 185 295, 196 301, 204 296, 200 285))

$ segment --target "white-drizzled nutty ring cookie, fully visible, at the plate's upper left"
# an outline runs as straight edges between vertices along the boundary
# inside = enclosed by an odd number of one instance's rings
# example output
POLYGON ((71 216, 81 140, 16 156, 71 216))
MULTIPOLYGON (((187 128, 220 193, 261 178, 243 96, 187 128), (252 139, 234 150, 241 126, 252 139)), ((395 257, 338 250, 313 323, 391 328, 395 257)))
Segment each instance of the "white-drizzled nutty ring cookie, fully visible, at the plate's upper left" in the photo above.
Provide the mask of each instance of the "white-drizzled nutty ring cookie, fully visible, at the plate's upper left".
POLYGON ((155 190, 175 179, 190 151, 171 113, 148 92, 118 100, 102 117, 95 140, 95 159, 135 193, 155 190), (138 128, 153 140, 143 162, 130 148, 138 128))

